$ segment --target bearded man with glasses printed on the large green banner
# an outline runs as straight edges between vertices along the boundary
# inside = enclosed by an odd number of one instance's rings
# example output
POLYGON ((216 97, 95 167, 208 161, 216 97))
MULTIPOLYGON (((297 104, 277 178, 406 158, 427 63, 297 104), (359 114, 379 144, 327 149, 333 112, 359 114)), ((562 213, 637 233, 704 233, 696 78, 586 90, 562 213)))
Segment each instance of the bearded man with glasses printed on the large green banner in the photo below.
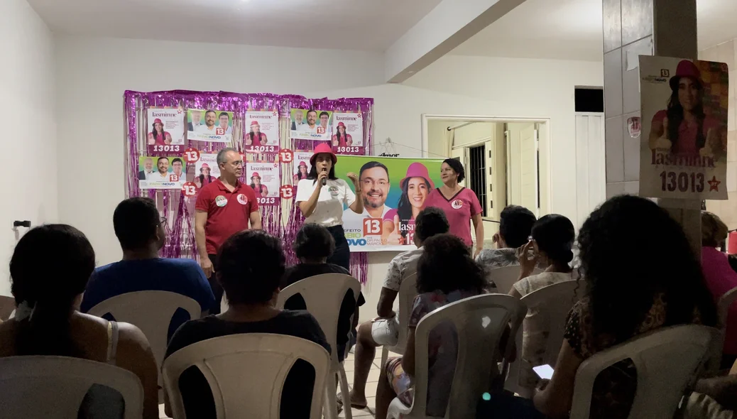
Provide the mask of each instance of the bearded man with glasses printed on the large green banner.
POLYGON ((363 228, 363 219, 383 219, 390 207, 385 205, 386 197, 389 195, 389 170, 380 162, 367 162, 358 173, 358 184, 361 190, 358 192, 363 199, 363 212, 356 214, 349 211, 343 216, 343 224, 346 229, 363 228))

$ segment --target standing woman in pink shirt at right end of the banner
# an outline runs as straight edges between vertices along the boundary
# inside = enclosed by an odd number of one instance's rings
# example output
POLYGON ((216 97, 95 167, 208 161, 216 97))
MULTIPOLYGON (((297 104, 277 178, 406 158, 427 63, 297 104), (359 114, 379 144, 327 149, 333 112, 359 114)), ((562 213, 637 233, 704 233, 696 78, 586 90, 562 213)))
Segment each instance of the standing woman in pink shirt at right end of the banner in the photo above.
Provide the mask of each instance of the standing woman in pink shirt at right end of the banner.
POLYGON ((476 250, 473 252, 475 258, 483 249, 481 204, 475 192, 458 184, 466 178, 466 170, 458 160, 445 159, 440 167, 440 178, 443 180, 443 186, 430 192, 425 206, 443 210, 450 224, 450 234, 457 235, 469 248, 473 246, 471 239, 471 221, 473 221, 476 232, 476 250))

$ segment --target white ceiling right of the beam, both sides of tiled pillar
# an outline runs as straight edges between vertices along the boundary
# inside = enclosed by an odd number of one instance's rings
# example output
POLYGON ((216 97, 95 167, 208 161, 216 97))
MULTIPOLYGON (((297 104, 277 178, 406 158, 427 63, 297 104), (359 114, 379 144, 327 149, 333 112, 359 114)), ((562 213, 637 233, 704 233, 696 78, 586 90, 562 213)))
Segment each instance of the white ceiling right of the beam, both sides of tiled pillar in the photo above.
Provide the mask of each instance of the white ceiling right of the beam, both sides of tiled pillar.
MULTIPOLYGON (((736 0, 696 0, 699 48, 737 38, 736 0)), ((451 52, 602 60, 601 0, 526 0, 451 52)))

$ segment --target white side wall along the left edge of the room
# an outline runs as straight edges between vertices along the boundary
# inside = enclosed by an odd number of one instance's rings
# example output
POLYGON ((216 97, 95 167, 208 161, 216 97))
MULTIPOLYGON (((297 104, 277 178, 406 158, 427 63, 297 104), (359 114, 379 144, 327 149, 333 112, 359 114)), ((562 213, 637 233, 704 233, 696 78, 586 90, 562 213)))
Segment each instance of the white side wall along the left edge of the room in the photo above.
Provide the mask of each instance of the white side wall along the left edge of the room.
POLYGON ((10 295, 13 221, 29 220, 33 225, 57 221, 53 49, 51 32, 26 0, 3 1, 0 115, 7 133, 0 140, 0 166, 6 173, 0 206, 0 294, 4 295, 10 295))

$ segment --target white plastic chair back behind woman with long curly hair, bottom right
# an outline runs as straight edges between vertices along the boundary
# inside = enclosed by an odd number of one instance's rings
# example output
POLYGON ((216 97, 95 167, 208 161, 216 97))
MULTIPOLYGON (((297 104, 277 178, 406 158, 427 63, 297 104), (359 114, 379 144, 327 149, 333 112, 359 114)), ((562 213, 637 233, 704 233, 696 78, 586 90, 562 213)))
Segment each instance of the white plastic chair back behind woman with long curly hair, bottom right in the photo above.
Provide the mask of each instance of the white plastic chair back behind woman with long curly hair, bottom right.
POLYGON ((596 353, 576 371, 570 419, 589 418, 596 376, 624 359, 632 359, 638 372, 629 418, 673 418, 686 388, 708 356, 716 333, 716 329, 707 326, 673 326, 596 353))

